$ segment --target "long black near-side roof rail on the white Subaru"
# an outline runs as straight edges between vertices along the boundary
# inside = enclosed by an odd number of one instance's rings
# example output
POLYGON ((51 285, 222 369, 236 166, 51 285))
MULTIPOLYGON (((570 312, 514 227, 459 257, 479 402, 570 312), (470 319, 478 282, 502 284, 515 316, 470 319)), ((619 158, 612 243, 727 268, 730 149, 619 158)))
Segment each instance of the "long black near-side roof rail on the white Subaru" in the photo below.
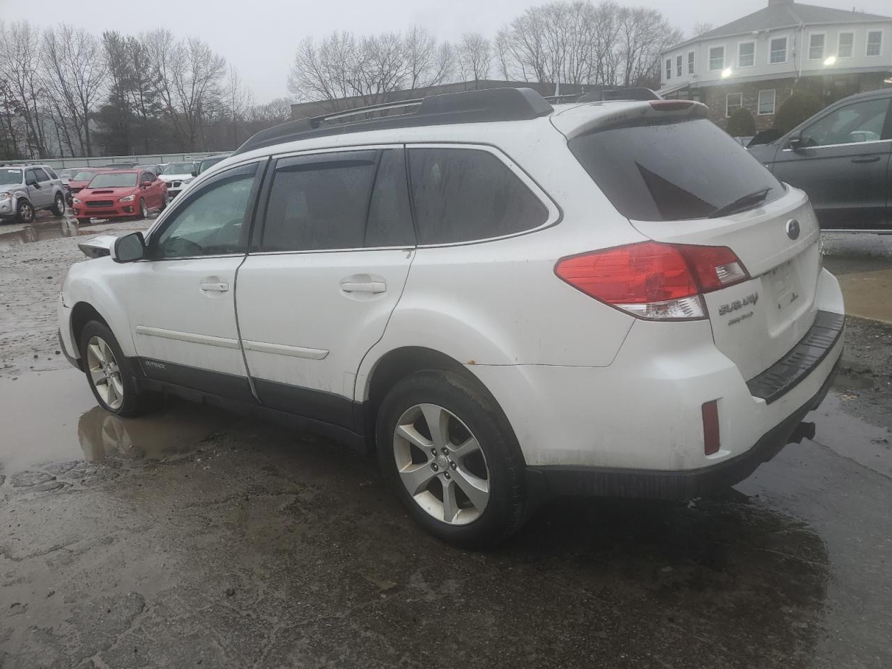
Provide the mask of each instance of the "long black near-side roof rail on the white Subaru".
POLYGON ((413 128, 417 126, 447 125, 452 123, 485 123, 499 120, 531 120, 547 116, 554 108, 532 88, 484 88, 483 90, 429 95, 413 100, 372 104, 346 111, 333 111, 321 116, 291 120, 259 133, 239 146, 233 155, 264 146, 293 142, 309 137, 343 135, 384 128, 413 128), (374 114, 400 108, 413 108, 399 114, 386 114, 338 123, 360 114, 374 114))

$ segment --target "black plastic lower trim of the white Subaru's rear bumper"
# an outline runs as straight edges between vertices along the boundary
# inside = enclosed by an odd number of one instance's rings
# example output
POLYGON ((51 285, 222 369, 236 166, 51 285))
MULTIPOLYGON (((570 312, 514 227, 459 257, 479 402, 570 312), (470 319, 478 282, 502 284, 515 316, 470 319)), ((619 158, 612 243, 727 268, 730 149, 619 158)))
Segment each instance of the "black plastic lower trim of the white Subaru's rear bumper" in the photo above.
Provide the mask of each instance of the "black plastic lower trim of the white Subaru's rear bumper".
POLYGON ((650 500, 690 500, 727 490, 777 455, 809 411, 816 409, 836 378, 839 361, 821 389, 779 425, 775 425, 746 452, 708 467, 684 471, 619 469, 607 467, 527 467, 530 484, 554 496, 626 497, 650 500))

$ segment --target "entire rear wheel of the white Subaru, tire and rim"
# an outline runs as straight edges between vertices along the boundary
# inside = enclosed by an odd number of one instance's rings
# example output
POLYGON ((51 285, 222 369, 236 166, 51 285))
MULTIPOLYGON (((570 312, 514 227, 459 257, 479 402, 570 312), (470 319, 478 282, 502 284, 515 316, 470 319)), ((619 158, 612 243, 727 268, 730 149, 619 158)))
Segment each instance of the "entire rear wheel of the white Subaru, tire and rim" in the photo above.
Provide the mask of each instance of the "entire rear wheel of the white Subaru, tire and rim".
POLYGON ((402 379, 378 412, 384 478, 442 541, 491 546, 523 524, 524 458, 488 392, 453 372, 402 379))

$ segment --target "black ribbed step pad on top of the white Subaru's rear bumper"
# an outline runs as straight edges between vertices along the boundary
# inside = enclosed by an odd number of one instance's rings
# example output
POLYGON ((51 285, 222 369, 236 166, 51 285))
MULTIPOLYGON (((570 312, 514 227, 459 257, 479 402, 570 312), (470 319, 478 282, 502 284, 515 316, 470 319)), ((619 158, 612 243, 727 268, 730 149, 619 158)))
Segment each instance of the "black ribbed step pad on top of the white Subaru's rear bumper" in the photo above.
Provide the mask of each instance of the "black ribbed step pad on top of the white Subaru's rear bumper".
POLYGON ((750 394, 766 404, 779 400, 821 364, 845 329, 845 316, 818 311, 812 327, 787 355, 747 381, 750 394))

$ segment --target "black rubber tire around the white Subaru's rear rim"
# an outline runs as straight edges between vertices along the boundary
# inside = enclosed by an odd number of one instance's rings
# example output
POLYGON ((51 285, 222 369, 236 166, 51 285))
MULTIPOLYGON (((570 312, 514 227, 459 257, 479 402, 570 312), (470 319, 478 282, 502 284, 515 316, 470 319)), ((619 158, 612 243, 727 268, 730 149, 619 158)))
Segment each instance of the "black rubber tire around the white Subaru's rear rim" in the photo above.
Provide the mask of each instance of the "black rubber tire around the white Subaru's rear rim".
MULTIPOLYGON (((385 481, 415 521, 438 539, 468 548, 484 548, 504 541, 524 523, 527 499, 523 454, 508 419, 475 379, 441 370, 421 371, 402 379, 387 393, 378 410, 376 447, 385 481), (404 413, 419 404, 437 405, 457 417, 483 451, 489 500, 483 512, 467 524, 449 524, 432 516, 401 481, 394 455, 394 431, 404 413)), ((452 471, 454 475, 454 467, 452 471)), ((438 474, 439 484, 445 483, 442 475, 449 478, 445 472, 438 474)), ((438 483, 432 485, 435 494, 438 483)), ((442 496, 442 488, 439 490, 442 496)))

